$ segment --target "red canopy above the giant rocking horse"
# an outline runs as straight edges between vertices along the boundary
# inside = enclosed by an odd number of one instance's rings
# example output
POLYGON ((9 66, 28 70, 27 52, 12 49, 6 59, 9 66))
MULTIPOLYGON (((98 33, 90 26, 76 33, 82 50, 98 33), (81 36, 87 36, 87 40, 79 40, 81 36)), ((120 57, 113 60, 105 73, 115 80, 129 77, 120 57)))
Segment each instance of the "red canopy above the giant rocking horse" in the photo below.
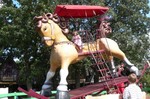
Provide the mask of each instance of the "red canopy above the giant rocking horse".
POLYGON ((108 7, 89 5, 57 5, 55 13, 65 18, 88 18, 102 15, 107 12, 108 7))

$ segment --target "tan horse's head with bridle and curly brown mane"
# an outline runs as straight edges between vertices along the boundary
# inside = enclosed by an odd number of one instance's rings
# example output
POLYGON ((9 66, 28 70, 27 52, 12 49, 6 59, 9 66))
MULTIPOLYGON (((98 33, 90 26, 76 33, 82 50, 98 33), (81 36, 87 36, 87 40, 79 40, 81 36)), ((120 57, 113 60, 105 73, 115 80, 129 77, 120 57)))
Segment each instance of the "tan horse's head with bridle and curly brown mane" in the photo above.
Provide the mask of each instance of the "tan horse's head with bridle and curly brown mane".
POLYGON ((43 16, 35 16, 36 31, 42 37, 47 46, 52 46, 56 40, 57 33, 67 33, 66 28, 60 24, 60 18, 55 14, 47 13, 43 16))

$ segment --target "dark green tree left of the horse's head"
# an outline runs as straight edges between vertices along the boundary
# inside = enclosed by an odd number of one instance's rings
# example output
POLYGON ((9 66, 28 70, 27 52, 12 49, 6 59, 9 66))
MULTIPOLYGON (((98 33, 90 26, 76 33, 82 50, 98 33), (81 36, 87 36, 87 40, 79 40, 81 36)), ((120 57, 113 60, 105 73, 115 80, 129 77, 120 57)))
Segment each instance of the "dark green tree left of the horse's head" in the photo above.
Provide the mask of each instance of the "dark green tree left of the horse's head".
POLYGON ((0 9, 1 30, 0 38, 2 54, 11 55, 19 59, 19 82, 26 82, 28 88, 32 87, 32 80, 43 83, 46 68, 49 67, 49 48, 40 42, 34 30, 33 18, 36 12, 51 12, 50 3, 37 1, 19 1, 18 8, 9 0, 0 9), (40 76, 41 77, 40 77, 40 76), (41 79, 39 79, 41 78, 41 79))

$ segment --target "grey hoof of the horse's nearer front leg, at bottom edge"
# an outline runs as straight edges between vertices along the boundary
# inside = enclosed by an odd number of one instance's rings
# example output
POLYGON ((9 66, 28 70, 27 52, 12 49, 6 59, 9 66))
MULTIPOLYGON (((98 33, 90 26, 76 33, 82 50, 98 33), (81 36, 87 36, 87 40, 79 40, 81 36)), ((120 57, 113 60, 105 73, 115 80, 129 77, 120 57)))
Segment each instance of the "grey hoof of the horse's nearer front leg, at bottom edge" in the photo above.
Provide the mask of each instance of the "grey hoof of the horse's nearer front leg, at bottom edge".
POLYGON ((70 99, 68 91, 57 90, 56 99, 70 99))

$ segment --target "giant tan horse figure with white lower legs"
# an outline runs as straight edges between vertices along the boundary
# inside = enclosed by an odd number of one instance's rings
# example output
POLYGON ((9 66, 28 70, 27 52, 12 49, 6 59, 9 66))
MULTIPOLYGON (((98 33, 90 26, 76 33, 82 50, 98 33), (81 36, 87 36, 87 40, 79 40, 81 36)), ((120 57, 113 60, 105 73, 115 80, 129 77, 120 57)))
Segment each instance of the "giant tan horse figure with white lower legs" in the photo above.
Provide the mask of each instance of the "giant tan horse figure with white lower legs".
MULTIPOLYGON (((55 74, 58 67, 60 69, 60 82, 57 87, 58 91, 67 91, 68 67, 72 63, 87 57, 86 55, 78 55, 75 45, 62 32, 62 28, 58 25, 58 18, 51 13, 44 14, 43 16, 36 16, 34 18, 36 30, 42 37, 42 40, 47 46, 51 46, 50 54, 50 69, 47 73, 46 80, 42 86, 41 94, 48 96, 51 90, 51 79, 55 74)), ((138 69, 127 59, 125 54, 119 49, 118 44, 109 38, 100 38, 93 43, 85 43, 83 45, 83 52, 96 51, 104 49, 107 53, 108 59, 117 57, 125 61, 131 70, 138 73, 138 69), (93 46, 94 45, 94 46, 93 46)))

